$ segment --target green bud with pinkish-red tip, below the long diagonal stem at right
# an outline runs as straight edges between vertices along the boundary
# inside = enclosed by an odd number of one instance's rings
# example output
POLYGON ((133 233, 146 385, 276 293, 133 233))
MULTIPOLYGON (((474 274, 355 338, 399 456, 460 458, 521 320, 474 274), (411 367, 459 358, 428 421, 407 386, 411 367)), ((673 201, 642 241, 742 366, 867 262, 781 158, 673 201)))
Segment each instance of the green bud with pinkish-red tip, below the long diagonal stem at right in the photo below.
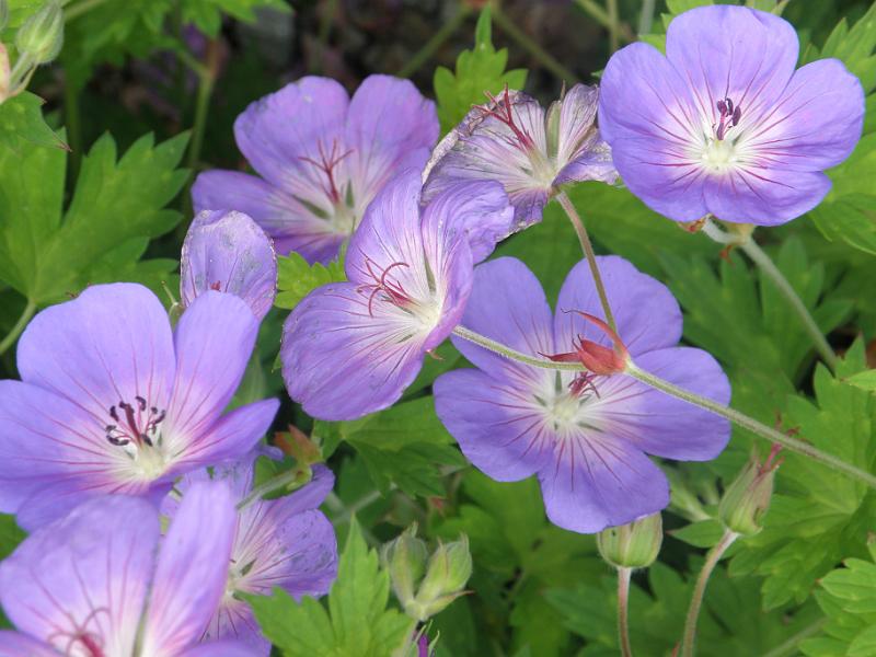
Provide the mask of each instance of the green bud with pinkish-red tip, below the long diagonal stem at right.
POLYGON ((775 445, 763 463, 752 454, 736 480, 724 492, 718 505, 718 517, 724 526, 738 534, 750 537, 761 529, 761 520, 770 508, 775 470, 781 465, 776 454, 782 449, 775 445))

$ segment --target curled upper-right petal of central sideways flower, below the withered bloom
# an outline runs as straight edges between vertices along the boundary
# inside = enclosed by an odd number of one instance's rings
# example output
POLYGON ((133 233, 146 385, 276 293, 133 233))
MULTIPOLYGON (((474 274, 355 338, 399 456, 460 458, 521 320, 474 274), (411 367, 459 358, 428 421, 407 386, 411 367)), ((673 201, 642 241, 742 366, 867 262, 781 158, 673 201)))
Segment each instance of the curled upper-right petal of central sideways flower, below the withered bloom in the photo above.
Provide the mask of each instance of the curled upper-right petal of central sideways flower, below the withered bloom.
POLYGON ((423 222, 424 233, 445 244, 452 243, 454 231, 464 233, 473 261, 480 263, 514 232, 514 207, 498 183, 460 182, 435 196, 423 222))

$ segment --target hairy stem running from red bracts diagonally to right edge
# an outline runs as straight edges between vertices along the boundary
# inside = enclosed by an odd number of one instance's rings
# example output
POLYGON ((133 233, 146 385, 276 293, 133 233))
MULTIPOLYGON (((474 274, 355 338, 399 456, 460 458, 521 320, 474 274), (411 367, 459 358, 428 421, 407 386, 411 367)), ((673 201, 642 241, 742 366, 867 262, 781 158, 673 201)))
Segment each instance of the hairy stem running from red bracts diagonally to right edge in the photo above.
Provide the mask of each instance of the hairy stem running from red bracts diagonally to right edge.
POLYGON ((797 452, 798 454, 803 454, 804 457, 808 457, 814 461, 818 461, 828 468, 832 468, 833 470, 838 470, 849 476, 852 476, 865 484, 867 484, 872 488, 876 488, 876 476, 873 476, 868 472, 861 470, 860 468, 855 468, 851 463, 846 463, 842 459, 838 459, 833 454, 829 454, 827 452, 822 452, 819 449, 816 449, 808 442, 803 440, 798 440, 797 438, 792 438, 791 436, 783 434, 776 429, 768 427, 766 425, 758 422, 753 417, 749 417, 738 411, 734 411, 733 408, 725 406, 718 402, 712 401, 707 397, 701 396, 699 394, 694 394, 684 390, 683 388, 679 388, 675 383, 670 383, 669 381, 665 381, 659 377, 655 377, 650 372, 646 372, 643 369, 636 367, 633 362, 627 364, 626 371, 624 372, 634 379, 642 381, 643 383, 650 385, 657 390, 666 392, 667 394, 671 394, 675 397, 680 400, 684 400, 689 404, 693 404, 694 406, 700 406, 701 408, 705 408, 714 413, 715 415, 721 415, 722 417, 726 417, 731 423, 737 426, 742 427, 744 429, 748 429, 752 434, 760 436, 761 438, 765 438, 771 442, 776 442, 784 447, 785 449, 797 452))

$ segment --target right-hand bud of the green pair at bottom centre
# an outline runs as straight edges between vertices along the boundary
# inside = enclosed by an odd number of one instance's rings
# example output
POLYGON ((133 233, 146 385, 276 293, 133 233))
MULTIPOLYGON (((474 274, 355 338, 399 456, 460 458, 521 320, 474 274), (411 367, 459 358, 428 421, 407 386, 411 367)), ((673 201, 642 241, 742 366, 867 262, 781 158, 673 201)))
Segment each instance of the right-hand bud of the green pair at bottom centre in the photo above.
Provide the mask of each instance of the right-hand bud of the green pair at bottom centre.
POLYGON ((426 577, 414 602, 405 606, 405 612, 419 621, 434 616, 465 595, 463 588, 471 574, 472 555, 465 534, 458 541, 439 545, 429 558, 426 577))

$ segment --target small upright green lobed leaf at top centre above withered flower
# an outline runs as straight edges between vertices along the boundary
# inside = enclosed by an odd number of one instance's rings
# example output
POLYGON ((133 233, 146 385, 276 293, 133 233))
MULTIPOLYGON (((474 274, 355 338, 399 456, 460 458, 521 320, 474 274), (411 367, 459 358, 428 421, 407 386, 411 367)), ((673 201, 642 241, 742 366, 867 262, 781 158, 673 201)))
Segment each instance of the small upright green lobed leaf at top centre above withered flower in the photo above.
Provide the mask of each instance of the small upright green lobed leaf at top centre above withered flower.
POLYGON ((457 58, 456 72, 445 67, 435 71, 435 97, 438 101, 438 118, 441 132, 448 132, 460 123, 472 105, 486 101, 485 92, 493 94, 507 84, 510 89, 522 89, 527 72, 522 69, 506 71, 508 51, 493 47, 492 21, 486 7, 477 19, 473 50, 464 50, 457 58))

